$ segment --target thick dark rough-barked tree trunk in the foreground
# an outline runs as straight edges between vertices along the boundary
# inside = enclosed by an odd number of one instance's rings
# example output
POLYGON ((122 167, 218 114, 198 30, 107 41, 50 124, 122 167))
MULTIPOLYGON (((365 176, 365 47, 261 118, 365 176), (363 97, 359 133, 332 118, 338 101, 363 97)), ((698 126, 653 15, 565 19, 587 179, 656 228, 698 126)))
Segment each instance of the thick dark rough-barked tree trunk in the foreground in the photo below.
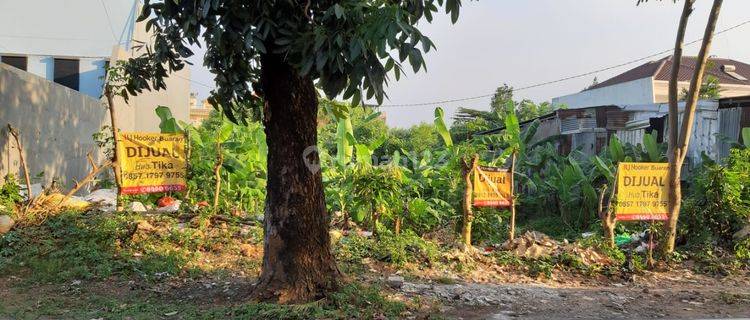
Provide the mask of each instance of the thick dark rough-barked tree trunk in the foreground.
POLYGON ((316 152, 318 100, 312 79, 282 57, 261 58, 268 143, 263 268, 253 296, 302 303, 337 287, 329 217, 316 152), (313 164, 310 166, 309 164, 313 164))

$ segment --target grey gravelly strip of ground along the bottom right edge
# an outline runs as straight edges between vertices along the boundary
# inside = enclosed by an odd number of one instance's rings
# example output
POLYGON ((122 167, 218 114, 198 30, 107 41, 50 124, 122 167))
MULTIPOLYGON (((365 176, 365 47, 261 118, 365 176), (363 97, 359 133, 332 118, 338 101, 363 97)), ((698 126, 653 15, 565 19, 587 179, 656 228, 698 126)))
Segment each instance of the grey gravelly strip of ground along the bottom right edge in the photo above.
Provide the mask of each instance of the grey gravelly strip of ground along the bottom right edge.
MULTIPOLYGON (((435 289, 456 319, 708 319, 750 317, 750 291, 736 287, 547 288, 452 285, 435 289), (471 292, 471 293, 469 293, 471 292), (481 292, 481 296, 477 294, 481 292), (471 299, 471 301, 466 301, 471 299), (449 300, 458 301, 447 304, 449 300)), ((432 295, 434 293, 430 293, 432 295)))

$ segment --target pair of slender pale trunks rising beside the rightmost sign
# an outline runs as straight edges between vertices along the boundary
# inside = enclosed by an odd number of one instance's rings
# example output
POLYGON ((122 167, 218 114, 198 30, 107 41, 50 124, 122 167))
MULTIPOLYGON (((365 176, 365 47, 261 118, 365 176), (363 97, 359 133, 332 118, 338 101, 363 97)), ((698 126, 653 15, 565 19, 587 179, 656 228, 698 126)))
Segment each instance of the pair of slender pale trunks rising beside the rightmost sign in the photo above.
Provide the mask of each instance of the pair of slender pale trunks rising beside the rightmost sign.
POLYGON ((677 128, 677 76, 678 72, 675 71, 679 66, 680 60, 682 60, 682 42, 685 37, 685 28, 687 27, 687 21, 692 12, 692 5, 694 0, 686 0, 685 7, 682 10, 682 16, 680 18, 680 24, 677 30, 677 41, 675 42, 675 54, 672 57, 672 74, 669 83, 669 193, 668 197, 668 210, 669 220, 666 224, 666 241, 664 244, 664 252, 672 253, 674 251, 675 241, 677 239, 677 221, 680 216, 680 204, 682 201, 682 189, 680 186, 680 176, 682 174, 682 164, 685 161, 687 155, 688 146, 690 144, 690 135, 693 130, 693 120, 695 119, 696 105, 698 104, 698 97, 700 86, 703 83, 703 74, 706 69, 706 61, 708 60, 708 51, 711 48, 711 42, 713 40, 714 30, 716 29, 716 21, 719 19, 719 11, 721 10, 721 4, 723 0, 714 0, 713 6, 711 7, 711 13, 708 17, 706 24, 706 30, 703 33, 703 43, 701 44, 698 57, 696 58, 696 65, 693 73, 692 80, 690 81, 690 88, 688 90, 688 96, 685 100, 685 110, 682 114, 682 126, 677 128))

